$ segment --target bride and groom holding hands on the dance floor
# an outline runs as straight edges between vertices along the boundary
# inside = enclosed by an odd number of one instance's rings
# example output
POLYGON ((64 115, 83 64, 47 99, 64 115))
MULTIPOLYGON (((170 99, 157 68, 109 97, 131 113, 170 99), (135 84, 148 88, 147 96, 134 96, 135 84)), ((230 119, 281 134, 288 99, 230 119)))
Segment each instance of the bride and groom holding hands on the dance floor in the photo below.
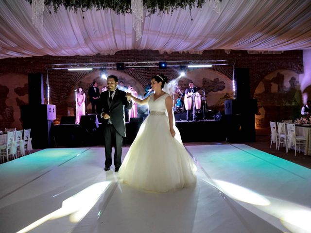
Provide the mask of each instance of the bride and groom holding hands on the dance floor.
POLYGON ((101 93, 99 107, 104 118, 105 166, 112 165, 122 182, 140 189, 167 192, 195 183, 196 166, 182 144, 173 118, 173 100, 168 94, 167 77, 155 75, 151 86, 154 94, 140 100, 117 88, 118 78, 107 77, 109 91, 101 93), (165 92, 167 89, 167 92, 165 92), (123 163, 122 137, 125 137, 124 107, 131 109, 132 100, 148 104, 150 114, 141 124, 138 134, 123 163))

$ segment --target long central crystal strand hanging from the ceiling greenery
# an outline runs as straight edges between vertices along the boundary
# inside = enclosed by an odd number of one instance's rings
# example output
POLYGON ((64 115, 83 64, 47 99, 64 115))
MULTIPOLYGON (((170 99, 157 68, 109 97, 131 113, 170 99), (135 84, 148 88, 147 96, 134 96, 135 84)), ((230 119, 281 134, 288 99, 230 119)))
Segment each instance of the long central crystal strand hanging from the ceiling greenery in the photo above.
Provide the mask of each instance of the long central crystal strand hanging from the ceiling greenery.
POLYGON ((142 0, 131 1, 132 15, 133 15, 133 29, 136 32, 136 40, 141 38, 141 27, 143 20, 143 4, 142 0))

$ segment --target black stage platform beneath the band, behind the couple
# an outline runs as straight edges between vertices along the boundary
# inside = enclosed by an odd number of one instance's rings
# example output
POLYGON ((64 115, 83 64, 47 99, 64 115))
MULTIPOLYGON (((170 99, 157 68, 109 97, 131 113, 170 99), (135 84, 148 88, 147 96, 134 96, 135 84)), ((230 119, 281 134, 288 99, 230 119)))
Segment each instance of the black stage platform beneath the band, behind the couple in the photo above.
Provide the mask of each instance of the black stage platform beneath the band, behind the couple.
MULTIPOLYGON (((176 117, 177 118, 177 117, 176 117)), ((178 118, 177 118, 178 119, 178 118)), ((215 120, 200 120, 195 122, 176 119, 176 127, 180 131, 183 142, 225 141, 225 122, 215 120)), ((132 118, 126 123, 124 145, 130 145, 135 139, 143 117, 132 118)), ((54 125, 53 135, 56 146, 77 147, 96 146, 104 144, 104 127, 93 125, 61 124, 54 125)))

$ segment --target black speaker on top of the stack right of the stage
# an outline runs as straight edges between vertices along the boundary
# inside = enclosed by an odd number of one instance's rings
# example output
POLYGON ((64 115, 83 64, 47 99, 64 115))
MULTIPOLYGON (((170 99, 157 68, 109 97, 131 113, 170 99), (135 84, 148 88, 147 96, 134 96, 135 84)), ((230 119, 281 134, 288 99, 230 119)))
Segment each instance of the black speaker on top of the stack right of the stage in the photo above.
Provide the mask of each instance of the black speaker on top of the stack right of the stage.
POLYGON ((234 72, 238 100, 250 99, 249 69, 236 68, 234 72))

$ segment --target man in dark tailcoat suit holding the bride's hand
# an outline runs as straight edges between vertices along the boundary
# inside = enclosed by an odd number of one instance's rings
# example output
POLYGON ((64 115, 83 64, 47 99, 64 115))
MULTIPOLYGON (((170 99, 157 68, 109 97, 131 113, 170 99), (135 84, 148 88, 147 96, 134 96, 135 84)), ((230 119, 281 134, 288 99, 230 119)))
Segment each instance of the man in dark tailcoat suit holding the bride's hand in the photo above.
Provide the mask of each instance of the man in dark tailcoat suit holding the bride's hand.
POLYGON ((115 148, 113 163, 115 171, 118 172, 121 166, 122 137, 125 137, 124 107, 132 108, 131 94, 117 88, 118 78, 114 75, 107 77, 107 87, 109 91, 101 93, 99 106, 101 117, 104 118, 104 138, 105 138, 105 171, 110 170, 112 165, 111 151, 112 145, 115 148))

